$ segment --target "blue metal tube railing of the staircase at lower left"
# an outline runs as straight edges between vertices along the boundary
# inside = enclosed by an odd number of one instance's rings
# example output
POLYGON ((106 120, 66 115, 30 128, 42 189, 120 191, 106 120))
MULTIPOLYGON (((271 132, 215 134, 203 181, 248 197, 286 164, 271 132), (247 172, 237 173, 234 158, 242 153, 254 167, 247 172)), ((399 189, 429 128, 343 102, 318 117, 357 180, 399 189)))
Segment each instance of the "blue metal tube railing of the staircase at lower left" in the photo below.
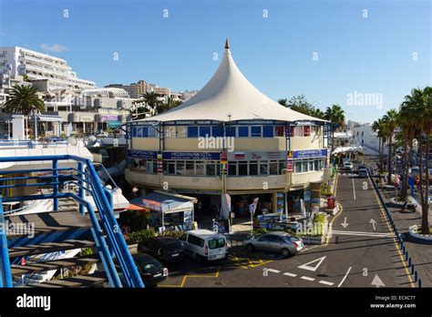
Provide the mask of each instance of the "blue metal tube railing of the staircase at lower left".
MULTIPOLYGON (((51 182, 44 182, 46 186, 52 186, 52 194, 40 194, 32 196, 18 196, 18 197, 5 197, 3 201, 13 202, 13 201, 24 201, 24 200, 36 200, 36 199, 53 199, 54 200, 54 210, 58 210, 58 199, 62 198, 72 198, 79 203, 79 212, 84 213, 84 209, 87 209, 88 216, 91 220, 93 228, 91 229, 93 237, 95 239, 96 245, 98 247, 98 253, 100 259, 104 265, 105 271, 107 272, 107 277, 110 286, 112 287, 122 287, 122 282, 118 277, 118 271, 114 265, 113 258, 118 261, 121 272, 123 273, 127 286, 129 287, 144 287, 144 284, 140 278, 139 271, 130 255, 129 248, 123 238, 121 230, 119 230, 117 220, 114 216, 114 210, 112 205, 112 194, 111 192, 104 188, 98 179, 98 174, 93 166, 91 160, 87 158, 80 158, 70 155, 62 156, 36 156, 36 157, 17 157, 17 158, 0 158, 0 163, 2 162, 22 162, 22 161, 52 161, 52 169, 46 169, 46 171, 51 171, 52 175, 44 176, 44 179, 52 179, 51 182), (69 175, 59 175, 58 162, 64 160, 72 160, 77 163, 77 169, 68 169, 71 174, 69 175), (73 175, 76 173, 77 175, 73 175), (65 178, 68 178, 66 180, 65 178), (59 191, 59 185, 64 185, 67 182, 71 182, 70 179, 76 180, 76 185, 78 186, 78 193, 62 193, 59 191), (64 180, 65 179, 65 180, 64 180), (98 210, 98 215, 101 220, 102 228, 99 226, 98 217, 93 209, 93 206, 86 200, 85 192, 89 192, 92 195, 96 208, 98 210), (103 229, 103 230, 102 230, 103 229), (106 236, 105 236, 106 235, 106 236)), ((30 173, 34 170, 15 170, 17 174, 30 173)), ((11 174, 10 171, 2 172, 1 175, 11 174)), ((35 178, 35 177, 32 177, 35 178)), ((7 179, 1 179, 6 180, 7 179)), ((28 186, 31 184, 28 184, 28 186)), ((3 185, 2 188, 14 188, 16 185, 3 185)), ((2 220, 4 220, 3 212, 0 214, 2 220)), ((5 232, 4 232, 5 233, 5 232)), ((5 240, 6 237, 0 236, 0 241, 5 240), (2 238, 3 237, 3 238, 2 238)), ((10 276, 10 261, 8 258, 8 248, 7 244, 2 244, 5 246, 2 248, 2 267, 0 273, 5 277, 4 284, 7 287, 12 287, 12 278, 10 276), (6 280, 10 281, 6 281, 6 280)))

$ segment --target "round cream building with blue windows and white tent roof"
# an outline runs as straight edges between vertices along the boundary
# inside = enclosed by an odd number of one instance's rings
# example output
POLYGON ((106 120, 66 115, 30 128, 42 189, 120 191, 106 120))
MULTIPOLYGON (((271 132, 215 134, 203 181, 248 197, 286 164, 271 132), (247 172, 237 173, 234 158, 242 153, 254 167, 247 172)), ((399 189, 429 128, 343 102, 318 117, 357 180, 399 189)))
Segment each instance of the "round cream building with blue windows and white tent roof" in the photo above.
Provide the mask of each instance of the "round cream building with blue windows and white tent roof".
POLYGON ((253 87, 227 40, 220 66, 198 94, 128 123, 126 178, 142 194, 163 189, 196 197, 196 218, 228 219, 230 210, 250 217, 256 197, 258 214, 290 213, 300 198, 319 201, 329 130, 328 121, 283 107, 253 87))

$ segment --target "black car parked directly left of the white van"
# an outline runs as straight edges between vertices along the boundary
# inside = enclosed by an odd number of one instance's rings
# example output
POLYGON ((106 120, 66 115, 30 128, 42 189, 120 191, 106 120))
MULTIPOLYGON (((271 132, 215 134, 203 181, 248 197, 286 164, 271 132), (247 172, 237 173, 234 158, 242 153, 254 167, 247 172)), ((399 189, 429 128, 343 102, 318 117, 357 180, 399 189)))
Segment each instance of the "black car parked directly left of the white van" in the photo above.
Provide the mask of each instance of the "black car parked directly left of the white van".
POLYGON ((139 242, 138 251, 154 256, 164 263, 180 261, 184 257, 181 241, 175 238, 158 237, 139 242))

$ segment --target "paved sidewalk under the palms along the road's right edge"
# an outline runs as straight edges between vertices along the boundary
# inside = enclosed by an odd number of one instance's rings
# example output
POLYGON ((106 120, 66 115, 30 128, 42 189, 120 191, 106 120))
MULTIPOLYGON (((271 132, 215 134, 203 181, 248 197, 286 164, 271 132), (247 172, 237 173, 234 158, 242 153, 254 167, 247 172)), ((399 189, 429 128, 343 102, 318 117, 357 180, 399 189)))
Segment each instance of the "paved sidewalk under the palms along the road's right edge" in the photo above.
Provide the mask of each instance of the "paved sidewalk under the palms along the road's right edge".
MULTIPOLYGON (((413 243, 407 239, 407 231, 410 226, 421 224, 421 213, 402 213, 399 208, 392 207, 390 199, 396 196, 396 189, 379 189, 386 207, 395 221, 397 230, 404 237, 406 250, 413 259, 419 278, 422 280, 422 287, 432 287, 432 248, 427 244, 413 243)), ((429 220, 431 213, 429 212, 429 220)))

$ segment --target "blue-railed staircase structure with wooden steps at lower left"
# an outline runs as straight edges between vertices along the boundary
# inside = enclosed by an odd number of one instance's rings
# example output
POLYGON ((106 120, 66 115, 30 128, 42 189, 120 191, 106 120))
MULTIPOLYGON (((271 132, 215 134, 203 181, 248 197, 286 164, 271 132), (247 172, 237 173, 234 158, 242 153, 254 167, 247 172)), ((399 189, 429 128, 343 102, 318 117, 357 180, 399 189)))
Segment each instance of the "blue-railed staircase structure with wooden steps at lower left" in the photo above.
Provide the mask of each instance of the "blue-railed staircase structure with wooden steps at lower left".
POLYGON ((116 288, 144 287, 114 216, 112 194, 102 185, 92 161, 70 155, 0 158, 0 163, 36 161, 48 162, 50 168, 0 169, 0 190, 4 193, 0 196, 0 287, 38 284, 52 287, 90 286, 92 281, 116 288), (59 162, 67 167, 59 168, 59 162), (71 183, 77 186, 77 193, 62 192, 63 186, 71 183), (35 186, 49 189, 48 194, 5 195, 8 191, 35 186), (96 210, 87 201, 87 193, 94 199, 96 210), (15 216, 13 212, 3 209, 3 203, 37 199, 53 199, 54 211, 15 216), (78 208, 59 210, 62 199, 77 201, 78 208), (35 232, 32 237, 10 233, 5 227, 10 223, 36 223, 35 232), (94 248, 97 254, 57 260, 58 252, 88 247, 94 248), (77 277, 69 279, 68 283, 67 279, 36 283, 43 271, 97 262, 101 263, 103 270, 95 276, 82 277, 81 280, 89 281, 86 284, 77 282, 77 277))

